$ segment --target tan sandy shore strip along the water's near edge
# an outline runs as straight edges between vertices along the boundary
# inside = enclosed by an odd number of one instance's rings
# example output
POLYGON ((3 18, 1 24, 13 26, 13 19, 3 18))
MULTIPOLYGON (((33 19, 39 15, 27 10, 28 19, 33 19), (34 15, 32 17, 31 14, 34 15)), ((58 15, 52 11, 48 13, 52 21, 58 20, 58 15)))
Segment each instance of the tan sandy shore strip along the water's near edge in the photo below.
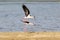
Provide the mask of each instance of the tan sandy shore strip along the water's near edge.
POLYGON ((60 32, 0 32, 0 40, 60 40, 60 32))

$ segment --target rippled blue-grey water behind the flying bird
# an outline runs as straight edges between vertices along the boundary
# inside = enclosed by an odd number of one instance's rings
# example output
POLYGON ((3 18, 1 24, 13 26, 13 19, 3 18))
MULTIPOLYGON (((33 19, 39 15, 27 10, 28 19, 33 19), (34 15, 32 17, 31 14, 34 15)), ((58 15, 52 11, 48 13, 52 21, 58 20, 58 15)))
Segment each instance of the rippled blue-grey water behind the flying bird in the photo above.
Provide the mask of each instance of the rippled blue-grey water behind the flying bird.
POLYGON ((58 32, 60 31, 60 3, 25 3, 35 20, 35 26, 25 25, 21 19, 25 16, 23 3, 0 4, 0 32, 58 32))

